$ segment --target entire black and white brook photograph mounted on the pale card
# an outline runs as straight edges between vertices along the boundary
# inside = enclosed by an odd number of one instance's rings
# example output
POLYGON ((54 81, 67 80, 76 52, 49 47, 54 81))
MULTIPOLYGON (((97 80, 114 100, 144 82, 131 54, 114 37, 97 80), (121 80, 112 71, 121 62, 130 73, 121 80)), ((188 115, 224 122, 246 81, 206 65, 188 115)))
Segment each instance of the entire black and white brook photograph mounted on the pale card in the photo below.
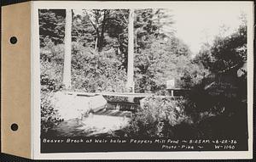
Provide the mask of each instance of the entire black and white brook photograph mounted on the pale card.
POLYGON ((245 9, 39 8, 41 153, 247 151, 245 9))

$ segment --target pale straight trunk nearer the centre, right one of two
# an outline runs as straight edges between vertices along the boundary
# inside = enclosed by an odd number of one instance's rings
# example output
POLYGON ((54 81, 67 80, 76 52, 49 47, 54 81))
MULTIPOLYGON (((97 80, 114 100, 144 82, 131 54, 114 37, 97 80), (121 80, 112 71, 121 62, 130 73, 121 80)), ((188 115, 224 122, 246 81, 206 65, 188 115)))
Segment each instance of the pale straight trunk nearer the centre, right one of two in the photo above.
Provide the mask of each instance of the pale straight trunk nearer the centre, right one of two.
POLYGON ((127 91, 134 92, 133 81, 133 54, 134 54, 134 33, 133 33, 133 14, 134 9, 130 9, 129 24, 128 24, 128 64, 127 64, 127 91))

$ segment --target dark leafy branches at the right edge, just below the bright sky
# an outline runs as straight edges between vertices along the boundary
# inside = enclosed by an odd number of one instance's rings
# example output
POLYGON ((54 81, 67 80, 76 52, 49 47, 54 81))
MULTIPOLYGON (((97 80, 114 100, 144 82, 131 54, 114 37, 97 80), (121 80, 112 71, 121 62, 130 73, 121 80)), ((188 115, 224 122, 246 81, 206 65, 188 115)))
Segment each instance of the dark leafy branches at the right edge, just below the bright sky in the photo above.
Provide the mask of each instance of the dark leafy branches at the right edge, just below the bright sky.
POLYGON ((230 36, 216 36, 212 46, 206 44, 202 47, 195 62, 218 73, 241 68, 247 61, 247 22, 243 21, 230 36))

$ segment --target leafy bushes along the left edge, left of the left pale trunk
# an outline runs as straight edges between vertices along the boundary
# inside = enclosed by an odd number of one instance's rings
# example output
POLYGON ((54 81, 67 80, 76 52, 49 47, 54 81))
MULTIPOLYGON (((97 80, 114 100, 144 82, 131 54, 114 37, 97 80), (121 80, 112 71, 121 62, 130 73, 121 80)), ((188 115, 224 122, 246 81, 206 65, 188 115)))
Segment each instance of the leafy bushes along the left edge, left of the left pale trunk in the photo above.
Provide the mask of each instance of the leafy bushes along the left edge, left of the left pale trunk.
POLYGON ((62 87, 62 45, 52 45, 42 48, 40 62, 41 133, 44 135, 44 133, 47 133, 61 122, 54 108, 53 94, 62 87))

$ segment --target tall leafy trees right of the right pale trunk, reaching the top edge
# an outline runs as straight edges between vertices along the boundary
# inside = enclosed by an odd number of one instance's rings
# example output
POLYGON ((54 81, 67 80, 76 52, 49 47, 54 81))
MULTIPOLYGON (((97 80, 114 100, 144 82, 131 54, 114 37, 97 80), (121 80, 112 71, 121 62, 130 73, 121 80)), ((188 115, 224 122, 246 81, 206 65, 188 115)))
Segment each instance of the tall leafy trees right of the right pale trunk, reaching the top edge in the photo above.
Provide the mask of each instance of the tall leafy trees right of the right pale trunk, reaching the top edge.
POLYGON ((136 92, 159 92, 170 79, 177 87, 191 87, 207 75, 193 64, 189 47, 174 36, 169 10, 138 9, 135 14, 136 92))

